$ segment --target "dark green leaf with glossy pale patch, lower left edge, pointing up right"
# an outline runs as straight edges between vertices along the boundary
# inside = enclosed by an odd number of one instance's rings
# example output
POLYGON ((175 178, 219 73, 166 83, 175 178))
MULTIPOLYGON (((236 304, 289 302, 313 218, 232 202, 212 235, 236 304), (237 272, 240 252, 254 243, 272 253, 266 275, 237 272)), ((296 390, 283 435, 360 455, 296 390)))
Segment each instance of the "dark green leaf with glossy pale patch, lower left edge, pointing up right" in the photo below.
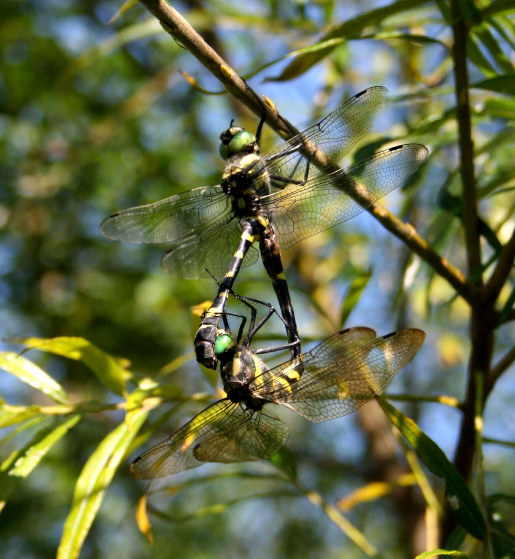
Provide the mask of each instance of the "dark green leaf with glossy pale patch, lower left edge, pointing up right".
POLYGON ((55 419, 48 427, 39 430, 23 448, 13 452, 0 465, 0 511, 20 482, 34 470, 41 458, 68 433, 79 419, 81 419, 80 415, 73 415, 67 419, 55 419))

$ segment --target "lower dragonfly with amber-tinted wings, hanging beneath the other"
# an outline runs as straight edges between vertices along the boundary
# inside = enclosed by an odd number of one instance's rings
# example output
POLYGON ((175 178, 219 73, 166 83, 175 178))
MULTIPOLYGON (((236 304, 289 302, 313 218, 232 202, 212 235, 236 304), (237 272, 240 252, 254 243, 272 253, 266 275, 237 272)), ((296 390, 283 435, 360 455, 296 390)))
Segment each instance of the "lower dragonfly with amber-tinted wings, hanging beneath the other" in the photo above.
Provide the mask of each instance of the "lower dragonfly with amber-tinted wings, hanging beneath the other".
POLYGON ((243 323, 236 340, 220 331, 215 352, 227 396, 136 458, 131 476, 151 480, 206 462, 271 458, 286 443, 289 429, 265 413, 264 406, 286 406, 313 423, 351 414, 409 363, 426 337, 422 330, 405 329, 376 338, 371 328, 357 326, 333 334, 298 359, 267 369, 258 353, 287 346, 249 346, 272 312, 257 325, 251 320, 241 344, 243 323))

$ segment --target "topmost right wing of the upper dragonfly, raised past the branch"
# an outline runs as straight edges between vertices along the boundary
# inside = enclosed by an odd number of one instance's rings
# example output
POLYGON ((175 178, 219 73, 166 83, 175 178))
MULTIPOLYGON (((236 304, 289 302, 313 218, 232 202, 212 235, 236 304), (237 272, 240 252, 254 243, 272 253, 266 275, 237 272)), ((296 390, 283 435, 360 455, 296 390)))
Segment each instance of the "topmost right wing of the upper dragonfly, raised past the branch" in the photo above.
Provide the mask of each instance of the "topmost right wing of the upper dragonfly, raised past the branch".
MULTIPOLYGON (((261 162, 265 165, 265 173, 278 175, 286 181, 302 181, 308 165, 306 156, 316 149, 327 157, 325 167, 338 163, 371 129, 377 111, 386 103, 388 89, 385 87, 370 87, 357 93, 318 124, 264 155, 261 162)), ((322 169, 310 165, 308 177, 319 174, 322 169)), ((284 187, 284 183, 279 183, 278 187, 284 187)))

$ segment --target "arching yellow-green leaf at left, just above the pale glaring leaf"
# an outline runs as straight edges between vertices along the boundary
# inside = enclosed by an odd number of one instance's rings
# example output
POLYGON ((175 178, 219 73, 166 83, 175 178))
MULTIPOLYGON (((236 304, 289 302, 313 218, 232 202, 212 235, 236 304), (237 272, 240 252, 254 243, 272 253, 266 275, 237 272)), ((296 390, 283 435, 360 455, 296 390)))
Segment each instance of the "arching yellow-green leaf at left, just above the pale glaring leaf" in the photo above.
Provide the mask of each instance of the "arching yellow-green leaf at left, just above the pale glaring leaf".
POLYGON ((29 345, 28 349, 39 349, 55 353, 68 359, 81 361, 89 367, 98 380, 103 382, 109 390, 124 395, 125 381, 130 378, 130 373, 123 367, 123 361, 103 352, 84 338, 26 338, 17 340, 29 345))

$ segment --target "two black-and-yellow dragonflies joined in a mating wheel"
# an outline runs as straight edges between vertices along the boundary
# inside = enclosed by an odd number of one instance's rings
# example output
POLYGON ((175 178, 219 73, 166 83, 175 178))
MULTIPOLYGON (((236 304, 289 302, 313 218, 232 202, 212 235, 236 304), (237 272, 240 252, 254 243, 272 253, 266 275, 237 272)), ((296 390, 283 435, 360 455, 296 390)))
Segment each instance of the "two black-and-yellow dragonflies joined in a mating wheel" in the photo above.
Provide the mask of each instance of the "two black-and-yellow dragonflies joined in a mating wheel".
MULTIPOLYGON (((266 402, 285 404, 297 411, 303 409, 299 413, 313 420, 314 416, 310 416, 306 409, 309 406, 317 408, 318 404, 313 402, 319 401, 318 391, 324 387, 329 392, 323 392, 320 402, 326 401, 328 394, 332 394, 331 398, 339 402, 336 408, 355 409, 355 404, 350 402, 356 397, 356 401, 360 401, 360 396, 351 389, 347 391, 345 386, 348 381, 338 375, 326 378, 325 373, 320 377, 320 371, 329 367, 349 374, 348 367, 352 369, 360 363, 366 364, 367 356, 377 353, 373 342, 375 333, 367 328, 344 331, 320 344, 313 352, 301 355, 279 242, 282 247, 289 248, 302 239, 360 214, 403 183, 427 157, 428 151, 423 145, 404 144, 380 151, 347 168, 336 167, 339 160, 371 129, 375 113, 388 101, 387 91, 384 87, 365 89, 318 124, 263 157, 259 157, 259 140, 264 116, 256 134, 233 126, 231 122, 229 129, 220 136, 220 155, 228 162, 220 185, 196 188, 149 205, 122 210, 102 222, 101 233, 110 239, 129 243, 171 243, 172 247, 163 255, 161 264, 164 271, 175 276, 199 278, 205 268, 215 276, 225 273, 217 296, 197 330, 195 352, 197 361, 206 367, 216 368, 218 361, 221 362, 224 386, 229 390, 228 398, 207 408, 173 435, 175 442, 182 440, 179 446, 165 442, 155 447, 157 451, 148 451, 148 456, 157 456, 161 452, 159 449, 166 449, 155 462, 159 465, 150 466, 147 458, 135 462, 131 472, 136 477, 144 477, 141 473, 144 471, 165 475, 162 472, 171 473, 178 471, 174 470, 176 467, 186 469, 192 467, 188 464, 195 466, 205 461, 232 462, 271 456, 270 452, 275 452, 284 444, 286 426, 262 414, 261 408, 266 402), (220 321, 226 317, 225 305, 240 267, 256 262, 258 252, 252 246, 255 242, 259 243, 264 267, 280 305, 289 341, 285 347, 290 349, 290 361, 281 369, 286 376, 281 376, 281 371, 276 371, 277 367, 265 373, 263 364, 255 361, 257 352, 252 352, 244 344, 239 352, 245 359, 241 361, 240 358, 240 362, 247 363, 245 367, 254 363, 249 371, 262 372, 249 379, 250 373, 244 367, 247 380, 235 387, 230 380, 234 377, 235 350, 220 351, 217 347, 222 343, 221 337, 229 335, 220 328, 220 321), (354 337, 361 339, 361 350, 356 349, 357 353, 349 349, 357 344, 352 342, 354 337), (338 349, 342 343, 343 353, 338 349), (353 357, 349 357, 351 361, 347 362, 350 354, 353 357), (330 362, 330 359, 333 361, 330 362), (308 366, 307 362, 311 365, 308 366), (308 376, 304 376, 309 371, 308 376), (295 378, 290 377, 290 373, 295 378), (302 379, 310 378, 309 375, 315 376, 305 385, 302 379), (270 382, 266 378, 270 378, 270 382), (259 387, 257 382, 261 383, 259 387), (282 395, 276 392, 277 382, 283 386, 282 395), (332 382, 336 384, 331 385, 332 382), (295 390, 286 390, 286 383, 290 387, 295 383, 295 390), (294 405, 290 399, 294 394, 310 404, 294 405), (191 430, 196 433, 195 436, 190 433, 191 430), (216 447, 220 447, 218 453, 215 452, 216 447), (177 452, 182 458, 177 458, 177 452), (242 458, 237 459, 238 456, 242 458), (169 467, 168 461, 179 466, 169 467)), ((408 352, 410 359, 418 349, 417 346, 412 350, 413 342, 406 342, 405 335, 398 334, 390 335, 388 343, 388 337, 377 340, 378 343, 385 340, 379 345, 383 348, 384 357, 378 362, 379 368, 373 368, 368 373, 370 378, 367 377, 365 391, 372 395, 376 393, 372 386, 379 387, 377 390, 384 386, 372 377, 379 379, 381 375, 389 375, 390 358, 394 363, 404 363, 400 356, 408 352), (393 340, 402 341, 394 343, 393 340), (384 343, 383 347, 381 344, 384 343), (382 372, 380 367, 384 367, 382 372)), ((249 332, 245 338, 247 344, 252 335, 249 332)), ((417 334, 417 339, 419 336, 417 334)), ((373 361, 376 357, 370 359, 373 361)), ((332 409, 332 406, 329 408, 332 409)), ((335 415, 331 412, 329 415, 336 417, 344 413, 335 415)), ((329 416, 321 417, 329 419, 329 416)))

